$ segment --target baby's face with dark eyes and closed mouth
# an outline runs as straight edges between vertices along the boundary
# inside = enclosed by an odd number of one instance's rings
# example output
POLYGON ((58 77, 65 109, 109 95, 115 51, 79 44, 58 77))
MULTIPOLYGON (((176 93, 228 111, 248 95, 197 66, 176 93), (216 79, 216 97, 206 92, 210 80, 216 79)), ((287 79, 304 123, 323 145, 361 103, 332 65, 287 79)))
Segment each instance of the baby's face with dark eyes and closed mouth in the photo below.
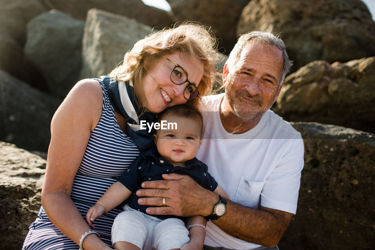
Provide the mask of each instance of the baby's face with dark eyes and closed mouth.
POLYGON ((184 167, 183 163, 194 158, 201 145, 201 123, 174 116, 166 116, 163 120, 177 123, 177 129, 174 126, 174 129, 157 130, 154 135, 157 151, 170 163, 184 167))

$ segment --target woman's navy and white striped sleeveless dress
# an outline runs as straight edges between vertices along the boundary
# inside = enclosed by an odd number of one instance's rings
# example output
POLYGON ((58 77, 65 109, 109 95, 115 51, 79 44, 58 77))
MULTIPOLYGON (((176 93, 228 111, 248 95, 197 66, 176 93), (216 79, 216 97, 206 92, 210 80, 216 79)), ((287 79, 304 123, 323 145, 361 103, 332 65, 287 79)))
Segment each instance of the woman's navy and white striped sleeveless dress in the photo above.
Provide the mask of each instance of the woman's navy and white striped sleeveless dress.
MULTIPOLYGON (((125 172, 139 150, 133 140, 118 126, 107 89, 99 80, 103 90, 103 111, 96 128, 91 132, 81 165, 74 178, 71 198, 82 216, 107 191, 117 177, 125 172)), ((111 227, 121 210, 113 209, 95 220, 95 231, 102 241, 112 247, 111 227)), ((69 218, 66 218, 69 220, 69 218)), ((30 225, 23 250, 78 250, 79 246, 63 235, 48 219, 43 206, 38 217, 30 225)))

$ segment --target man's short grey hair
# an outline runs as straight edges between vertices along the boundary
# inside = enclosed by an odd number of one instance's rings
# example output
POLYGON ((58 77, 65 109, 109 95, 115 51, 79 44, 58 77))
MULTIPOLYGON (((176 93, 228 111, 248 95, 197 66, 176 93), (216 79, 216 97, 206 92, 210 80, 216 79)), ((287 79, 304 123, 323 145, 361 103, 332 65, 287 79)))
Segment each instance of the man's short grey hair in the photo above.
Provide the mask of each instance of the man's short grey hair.
POLYGON ((234 46, 232 52, 229 54, 229 58, 226 61, 229 68, 236 65, 237 61, 240 59, 241 52, 245 48, 248 43, 258 43, 258 44, 265 44, 271 47, 275 46, 279 48, 284 57, 284 65, 281 72, 281 84, 284 79, 285 75, 290 71, 291 66, 293 65, 293 61, 289 60, 288 53, 285 50, 284 42, 279 38, 279 35, 270 32, 270 31, 252 31, 246 34, 243 34, 238 39, 236 45, 234 46))

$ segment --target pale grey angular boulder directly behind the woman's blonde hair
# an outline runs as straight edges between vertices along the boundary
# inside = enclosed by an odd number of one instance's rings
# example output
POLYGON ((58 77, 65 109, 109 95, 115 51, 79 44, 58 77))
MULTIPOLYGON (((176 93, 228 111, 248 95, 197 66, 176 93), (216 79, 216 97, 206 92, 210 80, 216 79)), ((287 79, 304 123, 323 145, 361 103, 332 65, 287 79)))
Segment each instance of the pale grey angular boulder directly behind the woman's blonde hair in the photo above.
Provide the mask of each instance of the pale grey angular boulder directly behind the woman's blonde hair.
POLYGON ((152 32, 151 27, 127 17, 92 9, 83 36, 81 78, 109 74, 135 42, 152 32))

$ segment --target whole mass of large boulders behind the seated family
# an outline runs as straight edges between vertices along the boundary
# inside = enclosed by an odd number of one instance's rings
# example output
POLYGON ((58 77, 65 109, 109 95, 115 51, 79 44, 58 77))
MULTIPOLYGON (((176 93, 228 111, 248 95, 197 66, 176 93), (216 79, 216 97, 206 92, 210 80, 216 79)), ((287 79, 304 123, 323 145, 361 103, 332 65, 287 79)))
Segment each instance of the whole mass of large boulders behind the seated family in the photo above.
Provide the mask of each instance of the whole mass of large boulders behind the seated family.
POLYGON ((171 12, 141 0, 0 0, 0 248, 21 249, 36 218, 49 123, 71 87, 190 20, 215 30, 223 58, 239 34, 272 30, 294 60, 274 108, 302 133, 305 167, 279 247, 375 249, 375 23, 365 4, 168 2, 171 12))

